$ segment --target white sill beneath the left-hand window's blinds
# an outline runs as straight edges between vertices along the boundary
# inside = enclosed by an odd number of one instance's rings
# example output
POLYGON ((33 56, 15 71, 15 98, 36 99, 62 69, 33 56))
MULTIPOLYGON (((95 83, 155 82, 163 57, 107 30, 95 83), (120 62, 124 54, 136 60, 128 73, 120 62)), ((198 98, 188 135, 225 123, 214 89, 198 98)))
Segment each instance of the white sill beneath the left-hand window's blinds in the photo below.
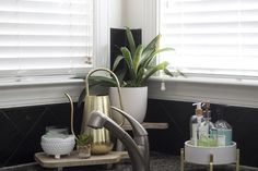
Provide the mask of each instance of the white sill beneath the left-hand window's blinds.
POLYGON ((83 86, 83 80, 1 83, 0 108, 68 102, 63 93, 68 93, 77 101, 83 86))

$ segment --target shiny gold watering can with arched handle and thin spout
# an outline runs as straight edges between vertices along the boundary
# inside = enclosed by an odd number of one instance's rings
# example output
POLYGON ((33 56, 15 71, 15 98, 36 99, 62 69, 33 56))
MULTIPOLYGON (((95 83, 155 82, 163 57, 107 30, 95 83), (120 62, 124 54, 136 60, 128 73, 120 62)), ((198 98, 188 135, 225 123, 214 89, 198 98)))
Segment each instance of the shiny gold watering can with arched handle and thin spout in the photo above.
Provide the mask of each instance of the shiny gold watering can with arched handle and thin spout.
MULTIPOLYGON (((121 110, 122 110, 122 102, 121 102, 120 84, 119 84, 119 81, 118 81, 117 76, 115 75, 115 73, 113 73, 110 70, 104 69, 104 68, 97 68, 97 69, 94 69, 89 72, 89 74, 86 75, 86 78, 85 78, 86 96, 85 96, 85 100, 84 100, 84 110, 83 110, 83 115, 82 115, 81 134, 86 133, 93 137, 93 143, 92 143, 92 147, 91 147, 91 152, 93 155, 104 155, 104 154, 109 152, 113 148, 113 142, 110 139, 109 131, 107 131, 106 129, 95 130, 95 129, 91 129, 87 126, 87 121, 91 117, 90 113, 92 111, 101 111, 101 112, 107 114, 108 117, 112 115, 109 96, 107 96, 107 95, 105 95, 105 96, 90 95, 89 77, 91 76, 91 74, 93 74, 97 71, 108 72, 115 77, 116 83, 117 83, 117 90, 118 90, 118 95, 119 95, 121 110)), ((66 94, 66 96, 69 98, 69 100, 71 102, 70 96, 68 94, 66 94)), ((124 119, 122 123, 120 123, 120 125, 122 125, 124 122, 125 122, 125 119, 124 119)), ((71 105, 71 132, 74 134, 72 105, 71 105)))

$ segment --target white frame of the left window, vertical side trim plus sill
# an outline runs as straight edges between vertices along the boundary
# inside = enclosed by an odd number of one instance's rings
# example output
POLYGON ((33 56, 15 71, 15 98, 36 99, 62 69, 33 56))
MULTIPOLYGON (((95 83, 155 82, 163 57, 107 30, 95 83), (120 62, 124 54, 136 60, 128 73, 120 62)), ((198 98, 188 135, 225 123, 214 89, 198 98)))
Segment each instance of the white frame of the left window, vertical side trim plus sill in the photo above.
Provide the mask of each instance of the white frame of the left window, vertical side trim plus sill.
MULTIPOLYGON (((109 0, 94 0, 94 35, 93 68, 109 66, 109 0), (101 57, 101 58, 99 58, 101 57)), ((92 68, 89 68, 89 71, 92 68)), ((86 75, 86 73, 85 73, 86 75)), ((63 93, 68 93, 74 101, 83 89, 82 78, 54 78, 34 82, 16 82, 0 84, 0 108, 27 107, 38 105, 68 102, 63 93)))

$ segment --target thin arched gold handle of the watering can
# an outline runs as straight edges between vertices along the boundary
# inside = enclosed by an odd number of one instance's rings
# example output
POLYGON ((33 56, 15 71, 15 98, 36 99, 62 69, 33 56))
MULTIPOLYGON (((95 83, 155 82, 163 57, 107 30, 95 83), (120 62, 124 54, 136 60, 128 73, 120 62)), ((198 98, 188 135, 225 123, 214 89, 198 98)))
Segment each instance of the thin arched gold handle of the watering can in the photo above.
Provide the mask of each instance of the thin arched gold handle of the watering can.
MULTIPOLYGON (((90 94, 89 77, 90 77, 90 75, 92 75, 94 72, 97 72, 97 71, 106 71, 106 72, 110 73, 115 77, 116 84, 117 84, 118 96, 119 96, 120 109, 124 110, 124 106, 122 106, 122 102, 121 102, 120 83, 119 83, 118 77, 116 76, 116 74, 113 71, 108 70, 108 69, 97 68, 97 69, 94 69, 94 70, 92 70, 92 71, 90 71, 87 73, 86 78, 85 78, 86 96, 89 96, 89 94, 90 94)), ((125 118, 122 118, 122 122, 119 125, 121 126, 124 123, 125 123, 125 118)))

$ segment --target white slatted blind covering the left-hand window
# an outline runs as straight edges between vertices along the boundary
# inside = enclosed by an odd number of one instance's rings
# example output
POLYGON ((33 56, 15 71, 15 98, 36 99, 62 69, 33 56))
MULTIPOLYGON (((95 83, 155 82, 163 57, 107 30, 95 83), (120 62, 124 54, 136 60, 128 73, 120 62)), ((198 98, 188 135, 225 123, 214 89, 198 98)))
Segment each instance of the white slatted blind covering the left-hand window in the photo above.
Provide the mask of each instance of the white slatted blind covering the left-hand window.
POLYGON ((93 0, 1 0, 0 82, 85 74, 93 0))

